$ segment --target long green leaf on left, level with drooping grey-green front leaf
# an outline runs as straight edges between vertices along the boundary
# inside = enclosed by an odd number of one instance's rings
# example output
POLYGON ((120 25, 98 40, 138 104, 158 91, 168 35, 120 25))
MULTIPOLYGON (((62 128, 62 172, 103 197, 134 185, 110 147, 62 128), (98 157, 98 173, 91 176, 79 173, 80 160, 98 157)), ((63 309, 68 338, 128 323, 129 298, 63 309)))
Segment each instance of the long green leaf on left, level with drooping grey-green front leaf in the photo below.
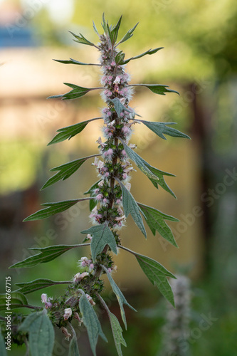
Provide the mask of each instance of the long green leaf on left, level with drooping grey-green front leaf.
POLYGON ((46 263, 53 261, 58 256, 69 251, 71 248, 89 246, 90 244, 80 245, 56 245, 48 247, 32 247, 29 250, 40 251, 37 255, 27 257, 23 261, 19 261, 9 268, 26 268, 38 265, 38 263, 46 263))

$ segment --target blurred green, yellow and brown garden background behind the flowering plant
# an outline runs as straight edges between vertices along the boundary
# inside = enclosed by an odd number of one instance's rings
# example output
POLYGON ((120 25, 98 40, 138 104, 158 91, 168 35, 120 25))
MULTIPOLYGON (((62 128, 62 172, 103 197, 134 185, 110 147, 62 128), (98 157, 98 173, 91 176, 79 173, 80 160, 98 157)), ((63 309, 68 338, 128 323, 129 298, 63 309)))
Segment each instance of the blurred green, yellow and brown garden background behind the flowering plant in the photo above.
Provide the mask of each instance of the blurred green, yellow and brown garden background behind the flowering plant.
MULTIPOLYGON (((132 179, 137 201, 176 216, 169 224, 179 249, 168 246, 158 235, 147 241, 132 219, 121 231, 128 248, 157 259, 173 273, 184 273, 191 281, 191 311, 187 350, 181 355, 236 354, 237 292, 237 4, 234 0, 1 0, 0 1, 0 237, 1 293, 5 276, 14 283, 36 278, 68 280, 77 272, 77 261, 89 250, 70 251, 56 261, 37 268, 8 270, 8 266, 30 256, 28 248, 51 244, 78 244, 80 231, 90 226, 87 204, 78 204, 67 214, 47 221, 22 223, 45 201, 83 197, 96 174, 90 162, 73 177, 39 192, 50 177, 49 169, 70 159, 94 154, 101 135, 98 122, 69 142, 46 147, 58 128, 100 116, 103 107, 95 92, 79 100, 46 100, 65 93, 63 82, 85 87, 98 85, 100 72, 94 67, 64 66, 52 61, 75 58, 96 63, 93 48, 73 42, 68 31, 83 33, 97 42, 92 21, 98 29, 102 13, 115 24, 123 14, 120 37, 139 22, 134 36, 122 43, 126 58, 149 48, 164 47, 153 56, 127 64, 131 83, 162 83, 180 96, 154 95, 137 90, 131 106, 144 120, 177 122, 178 130, 191 141, 167 141, 135 127, 131 142, 137 152, 155 167, 176 174, 167 178, 177 201, 166 192, 153 189, 142 173, 132 179), (216 320, 199 330, 201 315, 216 320), (196 333, 195 330, 199 330, 196 333)), ((101 28, 100 28, 101 30, 101 28)), ((138 313, 127 311, 124 336, 125 356, 168 355, 164 347, 167 305, 152 287, 135 261, 122 251, 116 257, 115 281, 138 313)), ((60 288, 48 288, 48 295, 60 288)), ((117 302, 111 310, 118 315, 117 302)), ((41 291, 29 295, 41 305, 41 291)), ((102 325, 110 344, 99 342, 98 355, 115 355, 105 315, 102 325)), ((58 332, 58 338, 62 338, 58 332)), ((66 355, 67 348, 55 351, 66 355), (64 353, 63 353, 64 352, 64 353)), ((79 347, 83 356, 92 355, 85 332, 79 347)), ((24 355, 14 349, 11 355, 24 355)), ((171 354, 169 354, 171 355, 171 354)))

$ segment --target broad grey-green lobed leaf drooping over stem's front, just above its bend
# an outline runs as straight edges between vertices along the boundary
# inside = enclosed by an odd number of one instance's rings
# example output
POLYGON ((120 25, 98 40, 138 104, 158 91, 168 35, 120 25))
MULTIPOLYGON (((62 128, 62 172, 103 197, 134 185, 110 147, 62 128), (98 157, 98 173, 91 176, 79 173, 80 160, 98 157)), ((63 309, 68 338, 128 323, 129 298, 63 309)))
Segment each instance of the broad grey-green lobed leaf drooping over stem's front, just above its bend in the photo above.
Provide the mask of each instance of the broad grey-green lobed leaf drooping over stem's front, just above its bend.
POLYGON ((96 256, 103 251, 106 245, 110 246, 111 250, 117 255, 115 236, 106 224, 92 226, 88 230, 81 231, 81 234, 90 234, 93 236, 90 248, 94 262, 96 256))

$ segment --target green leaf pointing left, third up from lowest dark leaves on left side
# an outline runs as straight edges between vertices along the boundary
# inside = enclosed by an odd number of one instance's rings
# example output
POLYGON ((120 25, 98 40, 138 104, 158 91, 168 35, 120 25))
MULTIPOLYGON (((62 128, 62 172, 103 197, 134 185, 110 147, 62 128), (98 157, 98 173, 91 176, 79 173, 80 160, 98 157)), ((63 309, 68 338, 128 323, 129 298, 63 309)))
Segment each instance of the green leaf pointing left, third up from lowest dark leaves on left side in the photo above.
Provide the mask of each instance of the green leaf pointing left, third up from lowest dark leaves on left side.
POLYGON ((73 205, 77 204, 79 201, 82 201, 85 199, 90 199, 90 198, 63 200, 63 201, 57 201, 57 202, 53 202, 53 203, 43 203, 41 205, 48 206, 48 208, 36 211, 36 213, 31 214, 23 221, 46 219, 49 216, 61 213, 62 211, 69 209, 71 206, 73 206, 73 205))

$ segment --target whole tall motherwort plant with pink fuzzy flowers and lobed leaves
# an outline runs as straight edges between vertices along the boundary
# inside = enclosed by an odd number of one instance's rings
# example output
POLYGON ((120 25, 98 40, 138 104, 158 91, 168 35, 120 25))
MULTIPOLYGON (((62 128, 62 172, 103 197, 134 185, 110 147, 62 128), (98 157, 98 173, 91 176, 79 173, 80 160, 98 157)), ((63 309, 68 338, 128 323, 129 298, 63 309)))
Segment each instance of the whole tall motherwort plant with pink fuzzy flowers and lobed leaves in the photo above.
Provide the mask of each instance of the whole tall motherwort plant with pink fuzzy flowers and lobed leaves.
MULTIPOLYGON (((75 125, 63 127, 58 130, 58 134, 48 145, 53 145, 78 135, 86 125, 95 120, 103 120, 102 137, 98 138, 98 153, 88 157, 78 158, 72 162, 54 167, 51 171, 56 172, 42 189, 52 184, 67 179, 76 172, 85 161, 92 159, 98 173, 98 182, 93 184, 87 192, 88 197, 83 199, 73 199, 42 204, 44 209, 28 216, 25 221, 46 219, 49 216, 58 214, 69 209, 74 204, 82 200, 88 200, 90 206, 91 227, 81 231, 85 234, 83 244, 78 245, 57 245, 46 248, 33 248, 38 253, 26 258, 24 261, 15 263, 13 268, 23 268, 36 266, 38 263, 46 263, 57 258, 62 253, 72 248, 83 248, 90 245, 90 256, 80 258, 78 270, 70 281, 51 281, 48 279, 37 279, 28 283, 17 283, 19 287, 11 293, 11 308, 31 308, 30 315, 13 315, 11 338, 16 343, 25 342, 31 355, 51 355, 54 343, 53 326, 61 328, 65 337, 70 340, 69 355, 79 355, 77 335, 72 326, 80 323, 88 331, 88 338, 93 355, 96 354, 96 345, 100 335, 107 341, 102 332, 100 321, 95 310, 98 307, 106 310, 115 340, 115 347, 118 355, 122 355, 121 345, 126 345, 122 337, 120 322, 113 315, 105 300, 102 298, 103 280, 102 274, 107 276, 111 288, 117 296, 120 305, 122 321, 127 328, 124 305, 132 306, 127 302, 120 288, 112 278, 112 273, 117 268, 113 262, 113 254, 117 254, 119 249, 131 253, 137 259, 142 271, 147 275, 149 281, 157 286, 160 292, 169 302, 174 305, 174 296, 167 278, 175 278, 161 264, 152 258, 142 256, 131 251, 122 245, 120 240, 120 229, 125 225, 127 216, 131 214, 137 228, 147 237, 144 228, 144 221, 151 229, 152 234, 156 231, 170 244, 177 246, 172 231, 166 224, 166 220, 178 221, 173 216, 139 203, 130 193, 130 178, 133 165, 140 169, 152 182, 155 188, 162 187, 175 197, 172 190, 164 180, 165 176, 173 174, 163 172, 146 162, 137 155, 136 146, 130 142, 133 127, 142 124, 155 132, 159 137, 166 140, 164 135, 173 137, 189 138, 178 130, 170 127, 174 122, 150 122, 141 120, 139 115, 130 107, 132 93, 137 86, 148 88, 152 93, 165 95, 166 93, 177 93, 167 85, 161 84, 130 84, 130 77, 125 71, 125 65, 130 61, 141 58, 145 55, 157 53, 161 48, 149 49, 139 56, 125 58, 125 53, 120 51, 119 46, 133 36, 137 25, 130 29, 120 41, 117 42, 118 31, 122 16, 115 26, 109 26, 105 17, 102 16, 103 33, 100 34, 93 23, 93 28, 98 34, 99 43, 94 44, 88 41, 81 33, 72 33, 74 41, 87 46, 93 46, 100 52, 100 63, 82 63, 70 59, 59 61, 64 64, 74 64, 75 66, 98 66, 102 70, 101 86, 97 88, 84 88, 75 84, 65 83, 71 89, 68 93, 55 95, 51 98, 61 98, 62 100, 78 99, 92 90, 100 90, 102 98, 105 100, 105 108, 102 109, 102 117, 79 122, 75 125), (132 165, 133 164, 133 165, 132 165), (28 304, 26 294, 48 286, 65 284, 65 293, 59 297, 48 297, 46 293, 41 295, 43 307, 35 307, 28 304)), ((5 304, 5 303, 4 303, 5 304)), ((133 308, 132 308, 133 309, 133 308)), ((3 354, 4 355, 4 354, 3 354)))

